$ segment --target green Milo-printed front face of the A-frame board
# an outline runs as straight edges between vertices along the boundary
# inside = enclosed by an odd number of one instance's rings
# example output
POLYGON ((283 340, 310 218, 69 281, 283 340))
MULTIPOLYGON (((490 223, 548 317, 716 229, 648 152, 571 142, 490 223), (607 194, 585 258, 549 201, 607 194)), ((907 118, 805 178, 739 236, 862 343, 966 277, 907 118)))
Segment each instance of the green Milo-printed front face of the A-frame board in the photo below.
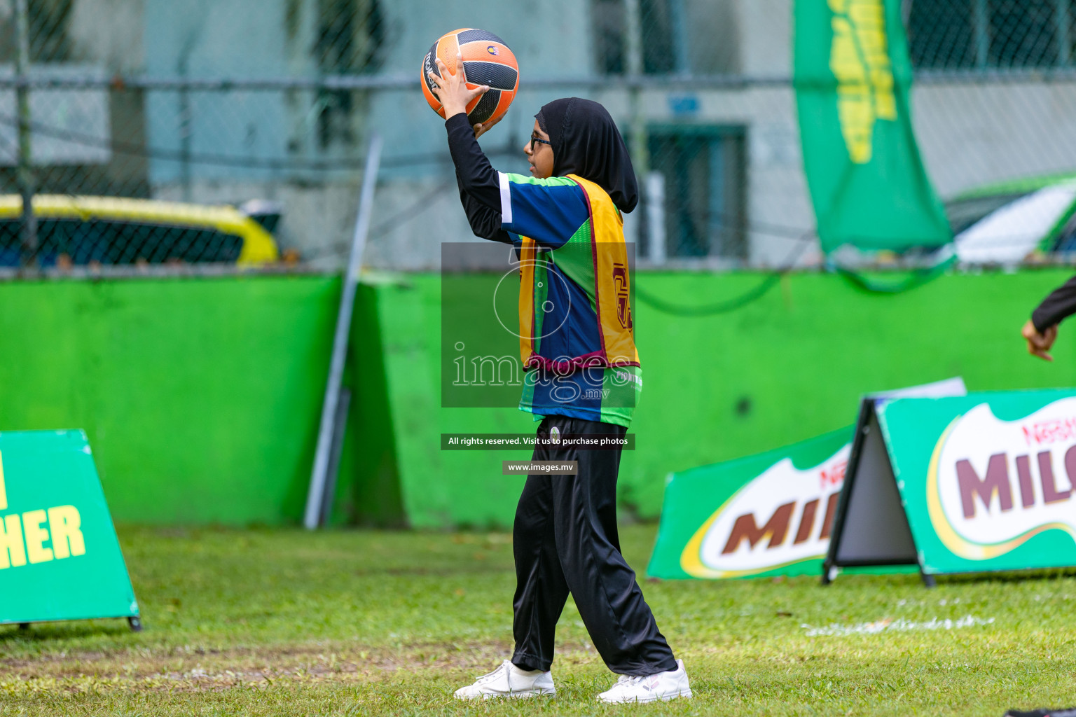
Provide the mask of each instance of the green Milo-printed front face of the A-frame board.
POLYGON ((926 574, 1076 564, 1076 391, 880 407, 926 574))

